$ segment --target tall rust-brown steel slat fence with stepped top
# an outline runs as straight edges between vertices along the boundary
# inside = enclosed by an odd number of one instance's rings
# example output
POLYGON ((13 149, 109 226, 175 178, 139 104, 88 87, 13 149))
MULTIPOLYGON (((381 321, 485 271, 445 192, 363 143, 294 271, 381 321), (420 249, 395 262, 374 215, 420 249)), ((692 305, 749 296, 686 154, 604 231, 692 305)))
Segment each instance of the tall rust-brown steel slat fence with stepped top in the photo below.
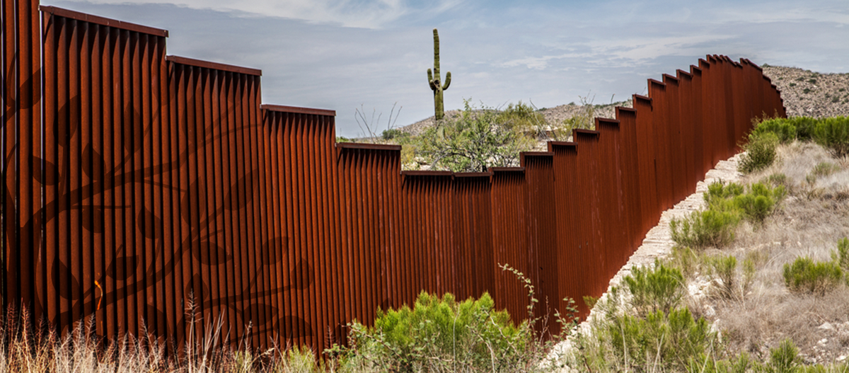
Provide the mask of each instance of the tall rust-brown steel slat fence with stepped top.
POLYGON ((334 111, 261 105, 261 71, 166 55, 167 31, 0 1, 3 306, 65 332, 181 346, 222 317, 222 342, 324 348, 419 291, 522 317, 498 263, 563 311, 784 116, 758 66, 709 55, 521 167, 402 172, 399 146, 336 144, 334 111))

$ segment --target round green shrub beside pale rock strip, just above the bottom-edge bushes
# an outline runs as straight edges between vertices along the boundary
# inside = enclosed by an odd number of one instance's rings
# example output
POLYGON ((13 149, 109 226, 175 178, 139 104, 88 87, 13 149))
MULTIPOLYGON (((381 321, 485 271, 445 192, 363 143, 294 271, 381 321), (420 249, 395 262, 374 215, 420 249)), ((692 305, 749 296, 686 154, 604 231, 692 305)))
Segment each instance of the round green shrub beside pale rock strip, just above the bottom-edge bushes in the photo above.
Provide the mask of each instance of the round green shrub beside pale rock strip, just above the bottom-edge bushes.
POLYGON ((634 267, 625 279, 631 293, 631 304, 638 314, 668 314, 681 301, 684 279, 678 268, 663 265, 655 259, 655 268, 634 267))

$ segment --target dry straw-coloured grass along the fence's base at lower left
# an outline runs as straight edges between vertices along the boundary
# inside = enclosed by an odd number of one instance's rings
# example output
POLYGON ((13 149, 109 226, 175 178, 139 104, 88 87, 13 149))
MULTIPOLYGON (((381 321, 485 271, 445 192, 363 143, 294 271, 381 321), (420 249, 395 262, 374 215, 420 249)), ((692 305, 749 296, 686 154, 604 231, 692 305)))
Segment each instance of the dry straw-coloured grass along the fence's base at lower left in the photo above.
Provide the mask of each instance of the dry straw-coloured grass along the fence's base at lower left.
MULTIPOLYGON (((177 354, 154 336, 124 336, 105 341, 93 333, 93 325, 80 323, 67 336, 48 328, 33 328, 27 313, 8 312, 0 324, 0 373, 5 372, 279 372, 333 371, 316 363, 309 350, 271 348, 261 353, 218 345, 222 321, 206 325, 211 334, 190 341, 177 354), (25 325, 29 325, 28 327, 25 325)), ((189 333, 194 335, 194 333, 189 333)))

